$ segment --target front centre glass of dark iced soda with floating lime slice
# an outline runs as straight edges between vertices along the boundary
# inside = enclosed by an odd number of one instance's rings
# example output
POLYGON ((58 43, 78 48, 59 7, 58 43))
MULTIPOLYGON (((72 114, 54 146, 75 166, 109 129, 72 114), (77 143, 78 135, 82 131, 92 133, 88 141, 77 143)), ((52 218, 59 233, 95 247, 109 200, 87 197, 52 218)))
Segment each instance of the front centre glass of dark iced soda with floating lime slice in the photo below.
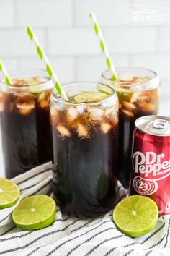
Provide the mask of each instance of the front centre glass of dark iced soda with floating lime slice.
POLYGON ((99 216, 116 197, 118 100, 107 85, 63 85, 69 101, 53 90, 53 192, 63 213, 99 216))

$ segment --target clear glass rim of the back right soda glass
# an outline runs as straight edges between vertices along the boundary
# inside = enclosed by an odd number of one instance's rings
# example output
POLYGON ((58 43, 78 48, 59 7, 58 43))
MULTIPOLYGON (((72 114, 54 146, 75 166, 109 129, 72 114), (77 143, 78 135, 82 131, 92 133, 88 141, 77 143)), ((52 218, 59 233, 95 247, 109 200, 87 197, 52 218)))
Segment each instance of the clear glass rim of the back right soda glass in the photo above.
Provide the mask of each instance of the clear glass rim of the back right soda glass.
MULTIPOLYGON (((149 77, 149 80, 146 81, 146 82, 134 82, 134 83, 127 82, 127 85, 126 85, 126 82, 125 82, 125 86, 127 86, 127 87, 128 87, 128 85, 130 87, 133 87, 133 85, 136 87, 136 85, 143 85, 147 82, 154 82, 154 80, 155 81, 158 80, 158 82, 159 82, 158 74, 155 71, 153 71, 151 69, 147 69, 145 67, 128 67, 128 66, 125 66, 125 67, 115 67, 115 69, 116 70, 121 70, 121 69, 136 69, 136 70, 138 70, 139 69, 139 70, 150 72, 151 74, 154 75, 153 77, 149 77)), ((109 72, 109 69, 106 69, 102 72, 102 78, 104 78, 105 80, 108 80, 109 82, 112 81, 104 75, 106 72, 109 72)), ((111 75, 110 75, 110 77, 111 77, 111 75)), ((115 81, 113 81, 113 82, 115 82, 115 81)))

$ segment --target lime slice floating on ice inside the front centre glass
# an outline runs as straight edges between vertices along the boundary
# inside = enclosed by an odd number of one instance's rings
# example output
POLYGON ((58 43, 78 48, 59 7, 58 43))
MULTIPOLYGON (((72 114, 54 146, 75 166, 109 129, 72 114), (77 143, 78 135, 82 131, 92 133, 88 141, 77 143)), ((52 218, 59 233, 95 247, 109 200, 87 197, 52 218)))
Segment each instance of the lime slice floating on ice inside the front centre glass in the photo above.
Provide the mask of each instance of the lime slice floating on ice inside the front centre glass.
POLYGON ((80 93, 80 94, 76 95, 74 97, 74 101, 76 101, 76 102, 101 101, 107 97, 108 97, 108 95, 106 93, 87 92, 87 93, 80 93))

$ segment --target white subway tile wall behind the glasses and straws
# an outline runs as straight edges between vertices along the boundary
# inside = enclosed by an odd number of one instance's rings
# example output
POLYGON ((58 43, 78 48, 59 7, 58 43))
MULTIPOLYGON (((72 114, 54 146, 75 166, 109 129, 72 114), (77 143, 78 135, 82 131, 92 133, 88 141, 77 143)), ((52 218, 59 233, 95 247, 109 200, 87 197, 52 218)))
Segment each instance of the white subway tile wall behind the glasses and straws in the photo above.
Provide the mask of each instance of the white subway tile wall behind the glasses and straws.
POLYGON ((107 64, 94 35, 90 12, 97 14, 115 66, 146 67, 158 72, 162 101, 168 103, 168 0, 0 0, 0 58, 7 69, 44 68, 24 31, 25 26, 32 25, 61 82, 99 80, 107 64), (129 25, 128 4, 165 7, 165 22, 129 25))

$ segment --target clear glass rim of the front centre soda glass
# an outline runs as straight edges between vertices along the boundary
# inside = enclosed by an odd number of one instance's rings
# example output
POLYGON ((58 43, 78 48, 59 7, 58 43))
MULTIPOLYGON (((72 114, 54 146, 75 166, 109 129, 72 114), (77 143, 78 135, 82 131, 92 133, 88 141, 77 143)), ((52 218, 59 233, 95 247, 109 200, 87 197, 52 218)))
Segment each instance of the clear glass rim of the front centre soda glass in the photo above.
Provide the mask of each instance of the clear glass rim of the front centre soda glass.
MULTIPOLYGON (((91 85, 104 85, 106 88, 109 88, 112 90, 112 95, 108 95, 107 98, 104 98, 102 100, 99 101, 84 101, 84 102, 73 102, 73 101, 64 101, 62 98, 60 98, 58 96, 58 92, 56 91, 56 89, 53 89, 53 92, 51 93, 51 98, 53 99, 53 101, 57 102, 57 103, 63 103, 65 105, 72 105, 72 106, 79 106, 79 105, 99 105, 100 103, 105 103, 110 99, 113 98, 117 98, 117 94, 114 88, 112 88, 109 85, 104 84, 103 82, 67 82, 65 84, 62 85, 63 89, 65 86, 67 85, 86 85, 86 84, 91 84, 91 85), (58 96, 58 97, 57 97, 58 96)), ((88 92, 88 91, 86 91, 88 92)))

